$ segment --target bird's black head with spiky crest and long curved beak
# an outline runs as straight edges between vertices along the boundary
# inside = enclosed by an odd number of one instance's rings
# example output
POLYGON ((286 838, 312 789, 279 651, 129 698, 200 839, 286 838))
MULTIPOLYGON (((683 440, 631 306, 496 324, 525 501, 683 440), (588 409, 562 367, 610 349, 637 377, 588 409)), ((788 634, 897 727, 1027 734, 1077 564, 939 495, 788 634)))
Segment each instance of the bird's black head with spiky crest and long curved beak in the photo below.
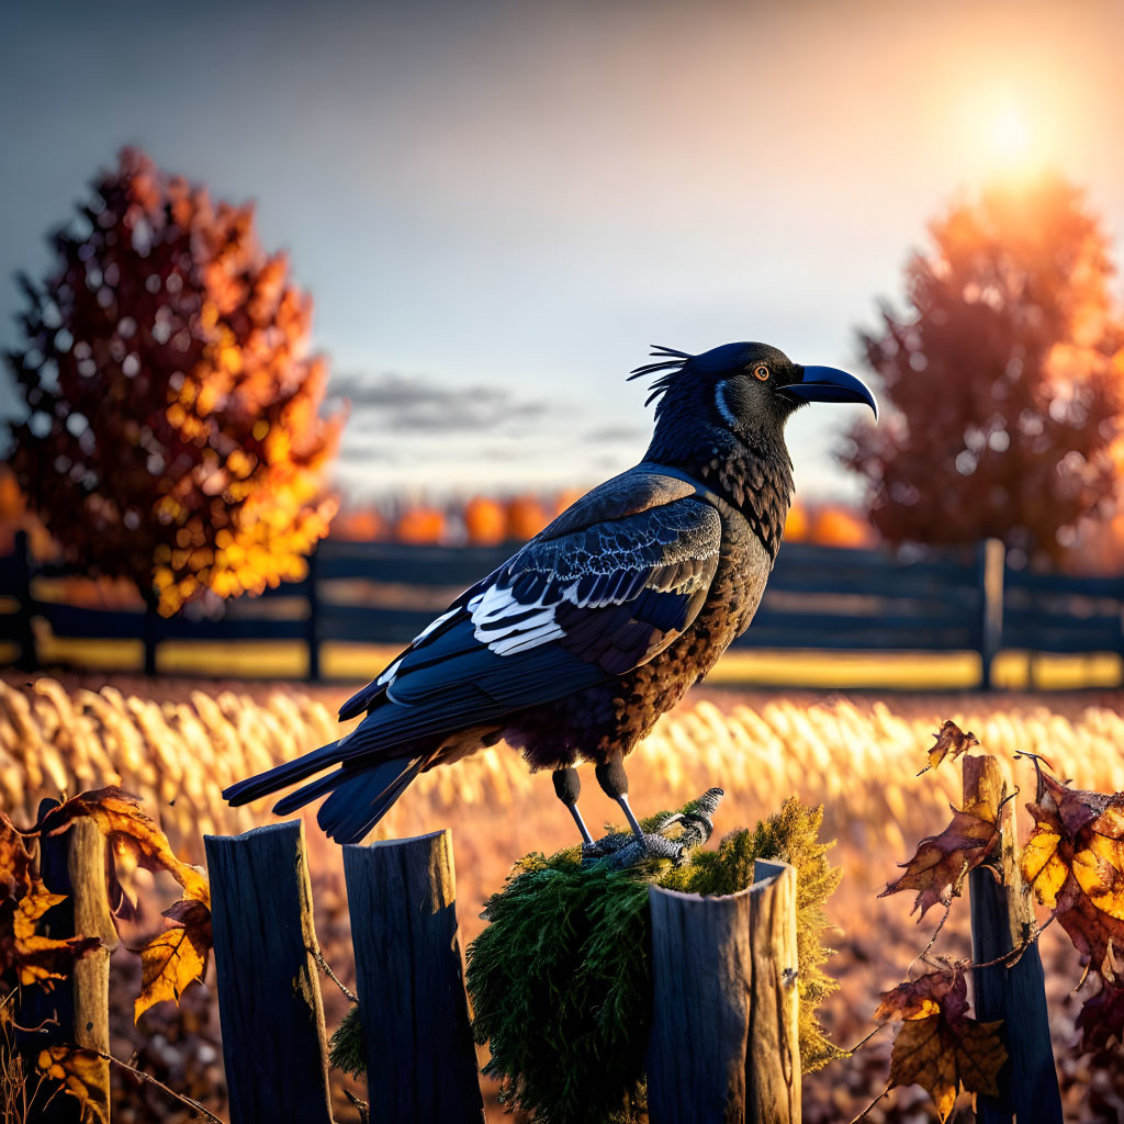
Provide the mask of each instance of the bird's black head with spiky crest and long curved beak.
POLYGON ((768 344, 723 344, 700 355, 656 347, 654 363, 632 379, 659 374, 649 401, 655 416, 703 423, 742 439, 779 435, 785 423, 808 402, 861 402, 878 417, 878 402, 861 380, 832 366, 801 366, 768 344))

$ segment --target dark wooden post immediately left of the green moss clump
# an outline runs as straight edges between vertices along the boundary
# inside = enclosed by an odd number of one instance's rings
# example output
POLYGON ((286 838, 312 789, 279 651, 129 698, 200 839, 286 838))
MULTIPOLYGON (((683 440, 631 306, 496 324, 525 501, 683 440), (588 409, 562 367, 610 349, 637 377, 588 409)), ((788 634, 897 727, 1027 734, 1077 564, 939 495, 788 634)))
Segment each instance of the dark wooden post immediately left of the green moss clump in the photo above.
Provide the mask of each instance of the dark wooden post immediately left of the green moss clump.
POLYGON ((480 1124, 453 837, 344 847, 371 1118, 480 1124))

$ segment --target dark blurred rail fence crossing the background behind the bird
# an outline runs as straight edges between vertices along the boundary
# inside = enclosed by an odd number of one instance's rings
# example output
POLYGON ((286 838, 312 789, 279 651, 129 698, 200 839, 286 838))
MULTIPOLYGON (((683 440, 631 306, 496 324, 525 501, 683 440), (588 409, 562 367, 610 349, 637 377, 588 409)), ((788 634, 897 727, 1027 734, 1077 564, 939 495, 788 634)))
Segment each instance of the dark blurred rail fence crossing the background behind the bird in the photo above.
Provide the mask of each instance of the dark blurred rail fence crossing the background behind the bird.
MULTIPOLYGON (((0 558, 0 640, 37 664, 35 620, 55 636, 134 638, 156 669, 165 640, 299 641, 308 677, 320 678, 325 643, 406 644, 453 596, 491 572, 515 549, 408 546, 328 540, 309 574, 261 598, 236 598, 217 618, 162 619, 75 606, 52 593, 57 566, 34 565, 26 543, 0 558)), ((1124 577, 1073 578, 1006 565, 1001 544, 932 553, 908 562, 885 551, 792 543, 783 546, 743 649, 969 651, 981 685, 1003 649, 1124 653, 1124 577)))

